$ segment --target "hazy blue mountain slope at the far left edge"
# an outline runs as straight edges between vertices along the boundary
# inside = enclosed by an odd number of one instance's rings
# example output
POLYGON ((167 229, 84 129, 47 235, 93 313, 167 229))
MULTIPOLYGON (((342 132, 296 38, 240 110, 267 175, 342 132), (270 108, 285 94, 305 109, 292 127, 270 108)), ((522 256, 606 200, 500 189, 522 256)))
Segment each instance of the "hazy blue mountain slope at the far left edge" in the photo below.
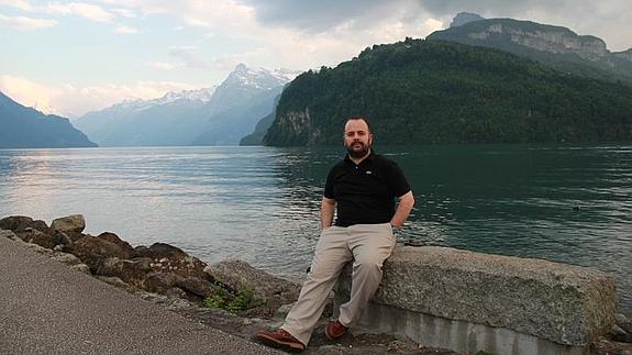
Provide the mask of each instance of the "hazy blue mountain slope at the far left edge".
POLYGON ((0 148, 93 146, 68 119, 23 107, 0 92, 0 148))

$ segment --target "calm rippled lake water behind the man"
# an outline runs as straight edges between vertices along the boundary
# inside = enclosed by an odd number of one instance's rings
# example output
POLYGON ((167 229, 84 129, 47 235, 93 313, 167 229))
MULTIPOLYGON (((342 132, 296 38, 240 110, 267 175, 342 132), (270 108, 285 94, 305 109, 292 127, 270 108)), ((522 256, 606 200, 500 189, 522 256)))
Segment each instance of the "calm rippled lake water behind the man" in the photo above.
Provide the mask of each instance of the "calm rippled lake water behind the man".
MULTIPOLYGON (((632 145, 377 147, 418 201, 398 238, 594 266, 632 315, 632 145), (579 211, 574 209, 579 207, 579 211)), ((300 277, 340 147, 0 151, 0 215, 86 217, 87 232, 166 242, 300 277)))

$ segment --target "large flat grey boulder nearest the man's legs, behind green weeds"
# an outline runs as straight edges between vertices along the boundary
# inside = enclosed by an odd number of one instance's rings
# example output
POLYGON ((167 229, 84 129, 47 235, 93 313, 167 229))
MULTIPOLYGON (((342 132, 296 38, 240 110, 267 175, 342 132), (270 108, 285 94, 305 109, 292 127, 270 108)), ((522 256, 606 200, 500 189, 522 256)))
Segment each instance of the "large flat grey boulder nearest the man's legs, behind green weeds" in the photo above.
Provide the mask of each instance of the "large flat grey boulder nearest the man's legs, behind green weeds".
POLYGON ((263 315, 274 315, 277 309, 298 299, 300 285, 252 267, 244 260, 224 260, 204 268, 209 276, 233 291, 250 289, 265 301, 263 315))

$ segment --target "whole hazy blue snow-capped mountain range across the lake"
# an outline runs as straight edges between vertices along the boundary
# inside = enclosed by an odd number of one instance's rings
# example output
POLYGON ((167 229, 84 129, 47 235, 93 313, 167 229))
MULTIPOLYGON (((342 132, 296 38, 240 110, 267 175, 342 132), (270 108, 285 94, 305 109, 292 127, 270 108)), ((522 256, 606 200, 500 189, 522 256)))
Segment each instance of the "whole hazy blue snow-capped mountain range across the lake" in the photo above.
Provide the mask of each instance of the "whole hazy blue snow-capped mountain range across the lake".
POLYGON ((237 144, 298 74, 240 64, 219 87, 125 100, 74 123, 101 146, 237 144))

